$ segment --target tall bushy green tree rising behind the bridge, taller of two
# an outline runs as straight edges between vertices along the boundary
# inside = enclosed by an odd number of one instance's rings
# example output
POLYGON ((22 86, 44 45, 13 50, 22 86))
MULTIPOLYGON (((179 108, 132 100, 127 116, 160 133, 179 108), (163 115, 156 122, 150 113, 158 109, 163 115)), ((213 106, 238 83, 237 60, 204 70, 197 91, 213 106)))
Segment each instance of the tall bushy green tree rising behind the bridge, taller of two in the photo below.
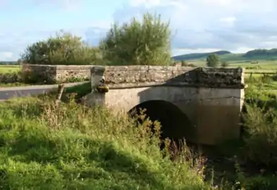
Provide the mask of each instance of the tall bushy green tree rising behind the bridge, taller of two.
POLYGON ((100 43, 104 58, 112 65, 169 65, 171 42, 169 22, 145 14, 142 22, 114 24, 100 43))

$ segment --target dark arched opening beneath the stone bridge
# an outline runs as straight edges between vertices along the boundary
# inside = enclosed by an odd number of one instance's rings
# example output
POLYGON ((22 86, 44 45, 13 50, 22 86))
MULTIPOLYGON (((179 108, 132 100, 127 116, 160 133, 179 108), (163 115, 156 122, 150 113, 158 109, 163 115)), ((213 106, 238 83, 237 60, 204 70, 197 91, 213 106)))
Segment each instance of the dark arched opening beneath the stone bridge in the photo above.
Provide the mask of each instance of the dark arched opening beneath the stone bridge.
POLYGON ((158 120, 161 123, 161 139, 169 138, 178 143, 180 140, 187 139, 192 132, 192 125, 187 115, 171 102, 144 101, 129 110, 128 115, 134 117, 141 109, 146 109, 144 114, 150 120, 158 120))

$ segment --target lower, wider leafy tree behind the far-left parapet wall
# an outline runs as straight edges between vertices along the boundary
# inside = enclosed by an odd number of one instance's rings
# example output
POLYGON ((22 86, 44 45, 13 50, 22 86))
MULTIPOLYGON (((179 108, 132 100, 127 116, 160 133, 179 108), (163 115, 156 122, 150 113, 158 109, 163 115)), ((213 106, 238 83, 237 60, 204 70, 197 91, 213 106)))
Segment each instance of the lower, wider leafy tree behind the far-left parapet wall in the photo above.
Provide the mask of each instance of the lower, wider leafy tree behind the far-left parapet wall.
POLYGON ((31 64, 90 65, 101 63, 101 53, 82 42, 81 37, 61 32, 27 46, 21 60, 31 64))

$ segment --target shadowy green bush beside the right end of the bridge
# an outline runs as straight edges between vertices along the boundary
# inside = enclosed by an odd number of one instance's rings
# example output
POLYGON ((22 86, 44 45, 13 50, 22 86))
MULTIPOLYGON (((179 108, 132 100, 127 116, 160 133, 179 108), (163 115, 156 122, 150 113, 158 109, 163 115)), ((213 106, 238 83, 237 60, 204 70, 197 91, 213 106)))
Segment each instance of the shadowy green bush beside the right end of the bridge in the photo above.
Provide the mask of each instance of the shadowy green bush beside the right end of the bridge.
POLYGON ((277 114, 272 108, 264 110, 247 106, 245 115, 244 157, 257 165, 277 166, 277 114))

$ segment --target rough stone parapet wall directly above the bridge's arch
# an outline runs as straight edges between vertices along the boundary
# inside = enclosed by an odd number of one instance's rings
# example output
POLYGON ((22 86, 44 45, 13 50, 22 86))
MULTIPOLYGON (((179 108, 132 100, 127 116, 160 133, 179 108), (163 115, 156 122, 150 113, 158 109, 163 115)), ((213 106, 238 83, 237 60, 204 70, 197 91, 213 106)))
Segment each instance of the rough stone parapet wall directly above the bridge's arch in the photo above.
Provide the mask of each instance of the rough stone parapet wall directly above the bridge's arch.
POLYGON ((242 89, 244 88, 244 72, 242 68, 134 65, 107 66, 104 77, 109 87, 125 88, 163 84, 242 89))

